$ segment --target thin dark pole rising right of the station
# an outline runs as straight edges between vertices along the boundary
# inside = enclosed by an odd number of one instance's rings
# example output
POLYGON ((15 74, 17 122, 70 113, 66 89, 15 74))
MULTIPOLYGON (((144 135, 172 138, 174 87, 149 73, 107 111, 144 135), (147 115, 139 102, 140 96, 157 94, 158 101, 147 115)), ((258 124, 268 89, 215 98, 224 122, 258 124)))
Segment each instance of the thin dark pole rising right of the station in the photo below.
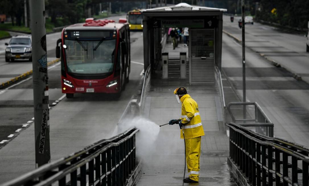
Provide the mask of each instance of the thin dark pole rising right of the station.
MULTIPOLYGON (((243 49, 243 102, 246 102, 246 56, 245 56, 245 2, 241 0, 241 30, 243 49)), ((246 119, 246 105, 243 105, 243 119, 246 119)))

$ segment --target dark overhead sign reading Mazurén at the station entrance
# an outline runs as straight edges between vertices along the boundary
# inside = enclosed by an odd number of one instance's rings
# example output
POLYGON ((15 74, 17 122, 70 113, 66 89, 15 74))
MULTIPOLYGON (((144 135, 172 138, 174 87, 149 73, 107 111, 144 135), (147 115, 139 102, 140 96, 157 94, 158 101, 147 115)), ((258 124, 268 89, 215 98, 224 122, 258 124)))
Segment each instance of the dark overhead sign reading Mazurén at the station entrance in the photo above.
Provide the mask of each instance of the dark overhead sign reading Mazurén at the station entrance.
POLYGON ((204 20, 161 20, 163 28, 204 28, 204 20))

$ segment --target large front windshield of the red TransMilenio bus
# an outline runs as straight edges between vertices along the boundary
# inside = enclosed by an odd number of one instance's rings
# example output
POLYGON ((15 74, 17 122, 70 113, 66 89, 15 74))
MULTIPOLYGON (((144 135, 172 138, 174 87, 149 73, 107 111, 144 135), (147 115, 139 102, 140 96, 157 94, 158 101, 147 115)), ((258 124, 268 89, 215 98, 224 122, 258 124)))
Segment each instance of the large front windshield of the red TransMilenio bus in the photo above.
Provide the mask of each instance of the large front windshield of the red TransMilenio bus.
POLYGON ((65 40, 68 72, 110 73, 114 68, 116 39, 99 41, 65 40))

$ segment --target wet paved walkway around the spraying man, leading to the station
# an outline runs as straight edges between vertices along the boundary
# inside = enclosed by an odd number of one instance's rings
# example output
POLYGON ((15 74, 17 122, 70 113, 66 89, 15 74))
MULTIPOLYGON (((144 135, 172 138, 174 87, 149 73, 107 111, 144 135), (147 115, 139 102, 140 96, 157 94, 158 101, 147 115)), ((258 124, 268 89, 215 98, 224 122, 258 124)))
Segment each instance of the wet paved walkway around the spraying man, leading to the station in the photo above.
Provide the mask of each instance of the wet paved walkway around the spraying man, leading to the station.
MULTIPOLYGON (((222 103, 214 85, 190 86, 180 79, 151 79, 143 114, 157 125, 181 116, 181 104, 173 92, 184 86, 197 101, 205 136, 201 141, 200 178, 194 185, 237 185, 227 165, 229 139, 224 131, 222 103)), ((142 153, 142 171, 136 185, 181 185, 184 173, 184 140, 178 125, 160 128, 153 146, 142 153)), ((186 170, 188 177, 188 171, 186 170)))

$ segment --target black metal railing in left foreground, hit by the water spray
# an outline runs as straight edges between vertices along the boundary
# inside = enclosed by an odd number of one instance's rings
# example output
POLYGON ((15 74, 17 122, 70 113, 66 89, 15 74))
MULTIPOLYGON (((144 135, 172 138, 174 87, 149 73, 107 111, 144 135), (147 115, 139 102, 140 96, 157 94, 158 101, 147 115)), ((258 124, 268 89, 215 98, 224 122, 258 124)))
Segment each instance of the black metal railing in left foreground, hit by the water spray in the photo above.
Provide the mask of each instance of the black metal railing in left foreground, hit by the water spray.
POLYGON ((33 170, 1 186, 124 185, 136 166, 135 134, 129 130, 103 139, 68 157, 33 170))

